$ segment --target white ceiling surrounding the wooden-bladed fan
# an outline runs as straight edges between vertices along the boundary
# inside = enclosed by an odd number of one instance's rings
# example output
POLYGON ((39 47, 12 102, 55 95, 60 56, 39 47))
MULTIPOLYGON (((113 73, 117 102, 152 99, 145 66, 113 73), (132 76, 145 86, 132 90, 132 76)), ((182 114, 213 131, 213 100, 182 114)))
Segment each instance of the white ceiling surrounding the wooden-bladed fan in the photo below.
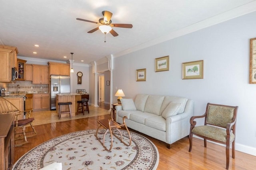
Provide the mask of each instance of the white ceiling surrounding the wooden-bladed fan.
POLYGON ((18 56, 57 61, 71 59, 73 52, 74 63, 84 64, 201 29, 209 26, 208 20, 217 23, 256 10, 255 0, 0 0, 0 4, 0 45, 17 47, 18 56), (114 27, 119 36, 108 33, 104 43, 100 30, 87 33, 99 25, 76 20, 98 22, 104 10, 113 13, 112 23, 131 23, 132 29, 114 27))

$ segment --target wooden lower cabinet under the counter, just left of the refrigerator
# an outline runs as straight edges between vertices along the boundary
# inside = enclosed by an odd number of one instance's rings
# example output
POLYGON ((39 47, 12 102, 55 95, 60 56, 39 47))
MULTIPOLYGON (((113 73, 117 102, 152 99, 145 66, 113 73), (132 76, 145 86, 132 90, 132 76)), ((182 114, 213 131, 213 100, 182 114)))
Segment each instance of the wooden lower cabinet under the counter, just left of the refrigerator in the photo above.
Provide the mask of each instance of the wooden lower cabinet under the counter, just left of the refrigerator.
POLYGON ((33 111, 49 110, 50 95, 49 94, 33 94, 33 111))

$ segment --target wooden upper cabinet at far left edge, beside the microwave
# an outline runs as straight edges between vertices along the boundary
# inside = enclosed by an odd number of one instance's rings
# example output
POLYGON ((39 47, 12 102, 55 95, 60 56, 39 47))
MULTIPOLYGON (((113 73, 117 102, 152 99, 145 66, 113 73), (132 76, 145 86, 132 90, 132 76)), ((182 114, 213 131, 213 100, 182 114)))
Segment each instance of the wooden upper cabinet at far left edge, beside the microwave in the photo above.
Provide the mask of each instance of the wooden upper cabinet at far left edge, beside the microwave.
POLYGON ((0 45, 0 82, 12 81, 12 68, 17 67, 17 54, 16 47, 0 45))

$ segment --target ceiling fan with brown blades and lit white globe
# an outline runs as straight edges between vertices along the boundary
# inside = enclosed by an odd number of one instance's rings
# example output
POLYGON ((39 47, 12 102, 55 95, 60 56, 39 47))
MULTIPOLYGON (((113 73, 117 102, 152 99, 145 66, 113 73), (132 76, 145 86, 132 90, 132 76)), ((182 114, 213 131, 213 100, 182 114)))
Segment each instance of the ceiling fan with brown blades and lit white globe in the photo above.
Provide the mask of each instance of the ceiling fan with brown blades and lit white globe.
MULTIPOLYGON (((110 20, 112 17, 112 13, 109 11, 102 11, 102 15, 104 16, 104 18, 100 18, 99 22, 95 22, 95 21, 90 21, 90 20, 84 20, 81 18, 76 18, 76 20, 80 20, 80 21, 86 21, 86 22, 92 22, 92 23, 97 23, 100 24, 100 26, 88 31, 87 33, 93 33, 95 31, 97 31, 98 29, 100 29, 100 31, 102 31, 102 33, 105 34, 106 33, 111 33, 114 37, 118 36, 118 33, 116 33, 116 31, 114 31, 114 29, 112 29, 112 27, 121 27, 121 28, 132 28, 132 24, 127 24, 127 23, 112 23, 112 21, 110 20)), ((106 42, 106 41, 105 41, 106 42)))

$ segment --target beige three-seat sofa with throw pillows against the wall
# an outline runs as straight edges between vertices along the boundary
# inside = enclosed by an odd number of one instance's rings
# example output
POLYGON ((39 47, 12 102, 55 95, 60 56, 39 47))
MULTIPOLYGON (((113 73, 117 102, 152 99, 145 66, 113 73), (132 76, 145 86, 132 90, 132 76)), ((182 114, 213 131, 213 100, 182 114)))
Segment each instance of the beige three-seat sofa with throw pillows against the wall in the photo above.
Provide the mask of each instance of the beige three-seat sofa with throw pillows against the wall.
POLYGON ((137 94, 132 99, 121 99, 116 106, 116 121, 170 145, 189 135, 190 117, 194 102, 182 97, 137 94))

